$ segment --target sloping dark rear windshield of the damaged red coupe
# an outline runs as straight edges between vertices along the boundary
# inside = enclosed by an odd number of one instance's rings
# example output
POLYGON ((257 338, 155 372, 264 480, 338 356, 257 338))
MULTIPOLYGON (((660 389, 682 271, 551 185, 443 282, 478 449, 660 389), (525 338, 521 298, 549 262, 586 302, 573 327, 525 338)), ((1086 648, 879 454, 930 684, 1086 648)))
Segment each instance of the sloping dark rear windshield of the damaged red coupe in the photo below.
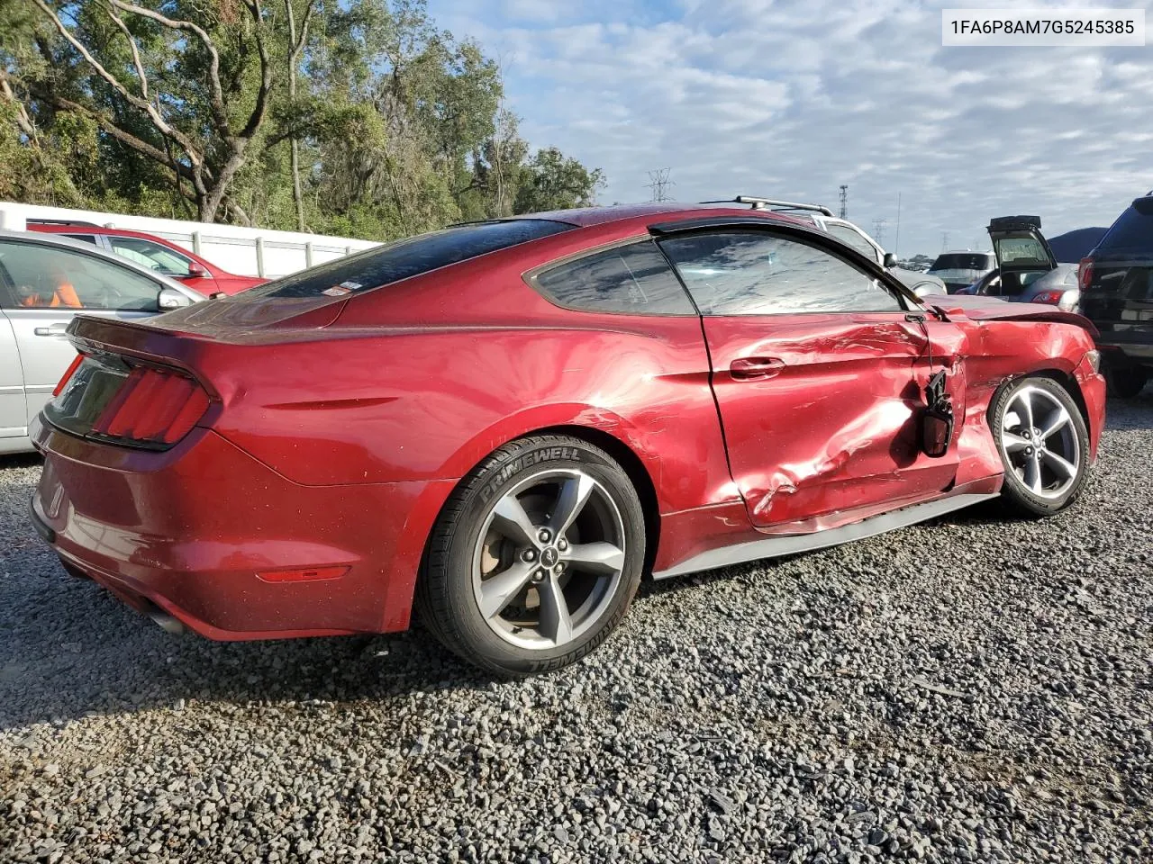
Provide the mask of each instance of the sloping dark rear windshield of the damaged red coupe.
POLYGON ((510 219, 461 225, 374 247, 348 258, 337 258, 241 291, 233 300, 322 295, 340 297, 575 227, 549 219, 510 219))

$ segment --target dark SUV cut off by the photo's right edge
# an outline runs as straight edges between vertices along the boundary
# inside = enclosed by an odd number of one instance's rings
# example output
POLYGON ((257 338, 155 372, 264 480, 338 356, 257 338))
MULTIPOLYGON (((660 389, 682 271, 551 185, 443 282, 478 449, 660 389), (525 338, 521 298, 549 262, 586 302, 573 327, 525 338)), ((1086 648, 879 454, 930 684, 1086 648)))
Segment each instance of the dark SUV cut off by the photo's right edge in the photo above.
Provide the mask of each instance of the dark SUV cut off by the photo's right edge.
POLYGON ((1131 399, 1153 374, 1153 192, 1133 200, 1082 258, 1077 281, 1082 312, 1101 332, 1109 392, 1131 399))

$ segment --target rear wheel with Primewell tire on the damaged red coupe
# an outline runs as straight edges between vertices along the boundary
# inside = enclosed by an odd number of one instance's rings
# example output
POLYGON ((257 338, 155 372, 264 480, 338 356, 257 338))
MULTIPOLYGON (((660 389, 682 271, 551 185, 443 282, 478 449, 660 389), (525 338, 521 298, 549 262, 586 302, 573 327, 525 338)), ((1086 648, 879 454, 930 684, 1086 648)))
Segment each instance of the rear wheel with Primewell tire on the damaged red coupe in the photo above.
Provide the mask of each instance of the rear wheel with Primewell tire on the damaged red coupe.
POLYGON ((643 562, 645 514, 628 475, 579 438, 533 435, 497 449, 450 497, 417 613, 489 672, 559 669, 617 627, 643 562))

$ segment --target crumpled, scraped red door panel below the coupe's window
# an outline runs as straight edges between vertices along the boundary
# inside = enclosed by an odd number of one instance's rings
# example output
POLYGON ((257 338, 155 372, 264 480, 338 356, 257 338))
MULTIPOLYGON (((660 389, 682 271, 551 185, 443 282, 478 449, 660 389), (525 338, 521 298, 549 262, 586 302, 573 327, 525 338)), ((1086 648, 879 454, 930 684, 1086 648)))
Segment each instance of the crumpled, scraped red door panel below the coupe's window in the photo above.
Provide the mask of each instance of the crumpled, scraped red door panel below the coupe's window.
MULTIPOLYGON (((929 326, 932 371, 950 370, 963 410, 964 335, 929 326)), ((704 331, 730 468, 758 528, 932 497, 952 483, 956 447, 936 460, 919 448, 930 370, 922 325, 904 313, 716 317, 704 331), (778 371, 734 376, 748 357, 778 361, 778 371)))

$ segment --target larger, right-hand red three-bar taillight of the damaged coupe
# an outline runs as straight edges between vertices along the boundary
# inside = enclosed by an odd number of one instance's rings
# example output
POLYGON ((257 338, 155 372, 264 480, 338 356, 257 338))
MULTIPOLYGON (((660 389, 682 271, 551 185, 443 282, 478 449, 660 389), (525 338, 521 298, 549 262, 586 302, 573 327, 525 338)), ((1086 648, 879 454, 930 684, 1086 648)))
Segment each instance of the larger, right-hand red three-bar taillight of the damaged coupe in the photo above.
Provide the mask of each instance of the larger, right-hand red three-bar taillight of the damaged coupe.
POLYGON ((209 396, 188 376, 156 366, 135 366, 100 411, 92 433, 126 444, 171 445, 204 416, 209 396))

